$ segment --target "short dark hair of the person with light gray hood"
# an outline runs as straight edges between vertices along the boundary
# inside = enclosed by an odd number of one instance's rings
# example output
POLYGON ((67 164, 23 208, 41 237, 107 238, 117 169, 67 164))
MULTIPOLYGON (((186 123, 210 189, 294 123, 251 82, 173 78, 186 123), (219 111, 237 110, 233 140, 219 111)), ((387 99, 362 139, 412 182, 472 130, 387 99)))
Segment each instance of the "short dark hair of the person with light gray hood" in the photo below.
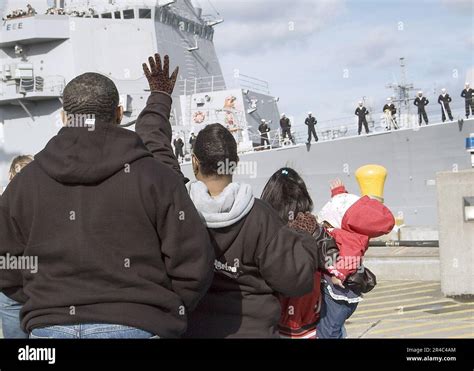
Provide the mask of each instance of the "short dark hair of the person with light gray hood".
POLYGON ((231 175, 239 162, 237 143, 221 124, 207 125, 198 133, 193 153, 205 176, 231 175))

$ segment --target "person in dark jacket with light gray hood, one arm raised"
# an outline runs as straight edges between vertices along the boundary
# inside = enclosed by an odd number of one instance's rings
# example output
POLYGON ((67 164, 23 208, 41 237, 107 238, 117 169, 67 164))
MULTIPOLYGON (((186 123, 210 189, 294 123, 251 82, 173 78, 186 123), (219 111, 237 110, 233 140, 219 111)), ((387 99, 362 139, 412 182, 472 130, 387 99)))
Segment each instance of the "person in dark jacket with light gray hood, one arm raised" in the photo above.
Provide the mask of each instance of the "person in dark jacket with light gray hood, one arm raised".
MULTIPOLYGON (((149 79, 159 84, 160 73, 149 79)), ((152 91, 136 130, 157 159, 180 173, 170 145, 170 109, 171 97, 152 91)), ((310 292, 319 267, 314 239, 290 229, 250 185, 233 181, 238 161, 237 143, 224 126, 199 132, 192 154, 196 180, 188 190, 216 259, 208 293, 188 314, 186 337, 278 337, 278 296, 310 292)))

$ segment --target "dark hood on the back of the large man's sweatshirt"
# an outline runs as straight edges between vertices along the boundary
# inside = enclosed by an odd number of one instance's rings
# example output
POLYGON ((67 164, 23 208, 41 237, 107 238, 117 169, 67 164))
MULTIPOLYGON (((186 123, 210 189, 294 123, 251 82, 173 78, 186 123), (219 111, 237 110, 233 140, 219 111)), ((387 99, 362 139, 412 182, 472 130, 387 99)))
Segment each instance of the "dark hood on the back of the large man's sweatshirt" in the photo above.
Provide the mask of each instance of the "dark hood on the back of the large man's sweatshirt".
POLYGON ((152 156, 132 131, 108 124, 65 127, 35 156, 49 177, 62 184, 97 184, 127 165, 152 156))

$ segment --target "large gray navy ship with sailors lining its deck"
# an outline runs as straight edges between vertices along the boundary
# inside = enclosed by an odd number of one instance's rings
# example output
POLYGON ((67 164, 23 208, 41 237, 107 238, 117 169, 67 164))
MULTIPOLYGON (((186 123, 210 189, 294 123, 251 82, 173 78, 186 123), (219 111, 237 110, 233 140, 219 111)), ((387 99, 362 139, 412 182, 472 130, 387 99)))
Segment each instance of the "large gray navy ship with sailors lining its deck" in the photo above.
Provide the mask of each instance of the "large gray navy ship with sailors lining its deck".
POLYGON ((256 195, 274 171, 291 166, 304 176, 317 209, 329 197, 329 180, 342 178, 357 192, 356 169, 376 163, 388 170, 385 203, 398 223, 436 226, 436 172, 471 167, 464 143, 474 133, 474 120, 463 120, 459 111, 454 121, 419 127, 404 110, 413 99, 405 83, 394 97, 399 130, 386 131, 383 121, 373 119, 368 135, 351 135, 343 126, 320 132, 320 141, 307 145, 289 143, 274 129, 271 148, 260 148, 257 128, 262 119, 279 126, 279 99, 263 80, 223 73, 213 43, 223 19, 203 14, 190 0, 30 4, 34 10, 26 10, 25 1, 0 2, 1 186, 7 184, 14 156, 37 153, 58 132, 63 89, 79 74, 97 72, 115 82, 125 111, 123 126, 133 130, 149 94, 141 65, 157 50, 180 66, 171 122, 174 136, 186 144, 182 169, 190 178, 190 134, 219 122, 239 144, 237 180, 252 184, 256 195), (12 16, 17 9, 25 11, 12 16))

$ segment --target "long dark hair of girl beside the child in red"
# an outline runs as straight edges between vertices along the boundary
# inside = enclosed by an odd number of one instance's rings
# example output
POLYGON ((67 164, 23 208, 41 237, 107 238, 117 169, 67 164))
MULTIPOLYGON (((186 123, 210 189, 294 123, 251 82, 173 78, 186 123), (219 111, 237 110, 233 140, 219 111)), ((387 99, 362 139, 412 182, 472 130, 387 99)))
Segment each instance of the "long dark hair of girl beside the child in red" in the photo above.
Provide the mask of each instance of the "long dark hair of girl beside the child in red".
POLYGON ((279 169, 270 177, 261 199, 268 202, 286 223, 299 212, 313 210, 313 200, 303 178, 289 167, 279 169))

